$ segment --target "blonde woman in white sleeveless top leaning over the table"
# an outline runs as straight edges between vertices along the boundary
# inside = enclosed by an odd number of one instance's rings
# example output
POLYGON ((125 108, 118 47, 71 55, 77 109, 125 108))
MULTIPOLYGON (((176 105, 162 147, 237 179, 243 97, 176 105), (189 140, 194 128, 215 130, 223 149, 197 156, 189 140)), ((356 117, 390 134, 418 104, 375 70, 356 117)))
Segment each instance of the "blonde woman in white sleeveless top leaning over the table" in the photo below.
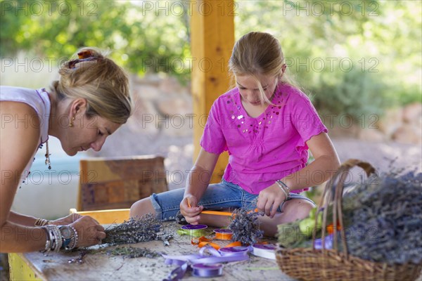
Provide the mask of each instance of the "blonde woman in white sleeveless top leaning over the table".
MULTIPOLYGON (((106 237, 94 218, 73 214, 56 221, 11 211, 15 192, 30 173, 34 155, 55 136, 70 156, 101 150, 132 112, 127 75, 94 48, 64 63, 50 89, 1 86, 1 252, 59 251, 98 244, 106 237)), ((50 166, 49 166, 50 169, 50 166)), ((42 196, 42 195, 39 195, 42 196)), ((34 198, 33 204, 37 204, 34 198)))

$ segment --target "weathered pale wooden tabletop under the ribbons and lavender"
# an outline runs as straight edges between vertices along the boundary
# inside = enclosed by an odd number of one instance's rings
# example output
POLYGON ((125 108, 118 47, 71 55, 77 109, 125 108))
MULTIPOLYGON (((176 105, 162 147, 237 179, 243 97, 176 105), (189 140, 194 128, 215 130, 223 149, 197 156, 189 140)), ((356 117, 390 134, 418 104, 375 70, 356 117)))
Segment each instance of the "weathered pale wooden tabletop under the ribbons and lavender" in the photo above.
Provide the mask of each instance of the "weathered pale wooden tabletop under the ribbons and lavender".
MULTIPOLYGON (((161 240, 131 244, 132 247, 146 248, 159 254, 171 256, 198 254, 198 247, 191 244, 191 237, 176 233, 179 225, 167 223, 166 232, 174 233, 169 240, 170 245, 165 246, 161 240)), ((276 240, 269 240, 276 242, 276 240)), ((216 240, 217 244, 224 247, 228 241, 216 240)), ((123 245, 120 245, 122 247, 123 245)), ((78 259, 80 251, 70 253, 40 252, 23 254, 30 267, 38 277, 44 280, 163 280, 177 266, 167 266, 162 256, 149 259, 139 257, 129 259, 123 256, 110 255, 113 247, 91 247, 91 252, 86 254, 82 263, 69 263, 71 259, 78 259)), ((184 275, 184 280, 292 280, 283 274, 276 261, 264 259, 249 254, 247 261, 225 263, 223 275, 219 277, 203 278, 194 277, 191 272, 184 275)))

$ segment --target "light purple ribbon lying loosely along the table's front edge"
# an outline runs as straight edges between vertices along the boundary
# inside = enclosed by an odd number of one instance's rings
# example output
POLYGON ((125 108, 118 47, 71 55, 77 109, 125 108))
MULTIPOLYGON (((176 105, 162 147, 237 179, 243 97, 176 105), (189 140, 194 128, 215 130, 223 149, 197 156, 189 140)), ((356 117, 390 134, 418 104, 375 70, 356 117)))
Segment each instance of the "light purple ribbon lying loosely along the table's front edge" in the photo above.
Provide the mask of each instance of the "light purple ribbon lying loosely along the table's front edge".
MULTIPOLYGON (((248 250, 249 251, 249 250, 248 250)), ((230 261, 246 261, 249 259, 248 251, 233 252, 227 253, 222 256, 222 254, 216 249, 205 246, 199 250, 199 254, 191 254, 184 256, 168 256, 162 255, 165 258, 165 264, 175 264, 178 267, 172 270, 172 272, 167 276, 167 279, 163 281, 176 281, 181 280, 184 277, 187 270, 191 270, 192 266, 199 264, 215 264, 215 263, 224 263, 230 261), (205 255, 205 252, 208 251, 210 255, 205 255)), ((215 274, 221 275, 221 268, 207 268, 203 266, 202 268, 196 268, 194 273, 200 277, 212 277, 217 276, 215 274)))

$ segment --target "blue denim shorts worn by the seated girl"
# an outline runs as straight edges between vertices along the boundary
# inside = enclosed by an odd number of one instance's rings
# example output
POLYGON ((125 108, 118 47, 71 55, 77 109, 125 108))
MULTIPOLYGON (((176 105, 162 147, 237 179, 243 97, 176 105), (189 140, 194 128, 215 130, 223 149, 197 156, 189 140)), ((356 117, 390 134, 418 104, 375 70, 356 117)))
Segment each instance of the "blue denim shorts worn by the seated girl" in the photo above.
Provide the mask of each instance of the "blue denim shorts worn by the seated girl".
MULTIPOLYGON (((155 209, 157 218, 162 221, 170 221, 175 218, 180 209, 180 202, 184 197, 184 188, 170 190, 159 194, 151 195, 151 202, 155 209)), ((258 195, 250 194, 243 190, 239 185, 222 180, 221 183, 208 185, 203 197, 199 201, 204 209, 236 209, 244 207, 246 209, 255 209, 258 195)), ((307 200, 315 205, 309 198, 297 193, 290 193, 290 198, 307 200)), ((281 203, 278 211, 284 203, 281 203)))

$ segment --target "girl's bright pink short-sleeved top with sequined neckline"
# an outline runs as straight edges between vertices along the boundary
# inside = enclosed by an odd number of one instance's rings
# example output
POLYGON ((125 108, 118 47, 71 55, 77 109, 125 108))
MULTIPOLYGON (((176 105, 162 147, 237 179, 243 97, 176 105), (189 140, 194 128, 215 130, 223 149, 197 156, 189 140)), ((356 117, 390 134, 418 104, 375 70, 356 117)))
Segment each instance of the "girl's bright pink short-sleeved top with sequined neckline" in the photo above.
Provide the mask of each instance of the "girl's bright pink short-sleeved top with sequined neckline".
MULTIPOLYGON (((293 86, 279 84, 271 102, 274 105, 252 118, 238 89, 231 89, 215 100, 200 140, 207 152, 219 155, 227 150, 224 180, 256 195, 303 169, 309 156, 306 142, 328 132, 309 98, 293 86)), ((303 175, 312 176, 318 175, 303 175)))

